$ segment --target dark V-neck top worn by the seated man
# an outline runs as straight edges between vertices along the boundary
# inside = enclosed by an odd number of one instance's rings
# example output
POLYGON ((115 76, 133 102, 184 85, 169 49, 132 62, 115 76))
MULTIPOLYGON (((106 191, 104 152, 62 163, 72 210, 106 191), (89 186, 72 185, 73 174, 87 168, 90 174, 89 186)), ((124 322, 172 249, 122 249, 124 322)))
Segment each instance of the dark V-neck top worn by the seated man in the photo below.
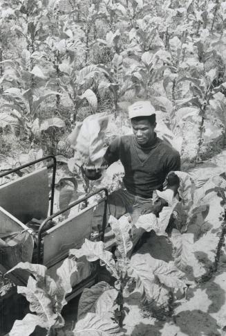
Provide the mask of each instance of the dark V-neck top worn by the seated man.
POLYGON ((108 166, 120 159, 127 191, 144 198, 162 190, 170 171, 180 170, 180 154, 157 136, 148 147, 139 145, 133 134, 118 137, 107 148, 104 159, 108 166))

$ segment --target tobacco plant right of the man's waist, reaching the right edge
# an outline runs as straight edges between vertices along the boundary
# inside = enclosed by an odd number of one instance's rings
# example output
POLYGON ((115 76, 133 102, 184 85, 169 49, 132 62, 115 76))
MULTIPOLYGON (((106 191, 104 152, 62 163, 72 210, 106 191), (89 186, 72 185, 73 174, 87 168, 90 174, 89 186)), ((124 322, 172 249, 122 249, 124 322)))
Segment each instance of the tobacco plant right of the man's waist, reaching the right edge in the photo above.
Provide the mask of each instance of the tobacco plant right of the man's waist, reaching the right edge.
MULTIPOLYGON (((176 267, 183 272, 187 267, 191 269, 197 265, 198 260, 194 254, 194 242, 200 239, 200 231, 209 214, 211 201, 216 199, 218 193, 224 193, 225 179, 220 176, 205 180, 203 186, 196 188, 193 179, 188 173, 173 172, 168 175, 168 187, 166 191, 157 191, 169 206, 173 208, 171 220, 170 240, 173 245, 173 257, 176 267), (174 175, 179 178, 179 184, 173 190, 170 183, 174 175)), ((175 186, 175 185, 174 185, 175 186)), ((208 240, 208 236, 206 240, 208 240)))

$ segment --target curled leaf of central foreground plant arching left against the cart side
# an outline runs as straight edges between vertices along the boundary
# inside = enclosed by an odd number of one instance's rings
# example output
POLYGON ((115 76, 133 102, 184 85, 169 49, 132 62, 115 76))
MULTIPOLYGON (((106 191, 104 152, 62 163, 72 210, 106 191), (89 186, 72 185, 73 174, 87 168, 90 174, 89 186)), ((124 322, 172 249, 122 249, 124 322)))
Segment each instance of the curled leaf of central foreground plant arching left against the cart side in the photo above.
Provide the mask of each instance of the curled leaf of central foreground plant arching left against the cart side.
POLYGON ((109 269, 109 272, 111 272, 115 278, 118 278, 113 254, 104 249, 104 242, 91 242, 88 239, 85 239, 81 249, 70 249, 69 254, 76 256, 76 258, 86 256, 88 261, 100 259, 102 263, 106 265, 107 269, 109 269))

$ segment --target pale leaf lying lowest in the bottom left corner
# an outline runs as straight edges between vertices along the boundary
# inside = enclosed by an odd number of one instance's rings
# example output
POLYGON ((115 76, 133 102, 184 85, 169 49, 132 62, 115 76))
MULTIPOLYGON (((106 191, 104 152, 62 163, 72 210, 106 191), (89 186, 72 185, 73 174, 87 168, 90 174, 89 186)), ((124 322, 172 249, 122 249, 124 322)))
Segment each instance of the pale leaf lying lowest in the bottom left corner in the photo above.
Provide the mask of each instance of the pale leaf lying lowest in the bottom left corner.
POLYGON ((27 314, 22 320, 16 319, 10 330, 9 336, 29 336, 33 333, 35 328, 40 326, 45 327, 43 319, 38 315, 27 314))

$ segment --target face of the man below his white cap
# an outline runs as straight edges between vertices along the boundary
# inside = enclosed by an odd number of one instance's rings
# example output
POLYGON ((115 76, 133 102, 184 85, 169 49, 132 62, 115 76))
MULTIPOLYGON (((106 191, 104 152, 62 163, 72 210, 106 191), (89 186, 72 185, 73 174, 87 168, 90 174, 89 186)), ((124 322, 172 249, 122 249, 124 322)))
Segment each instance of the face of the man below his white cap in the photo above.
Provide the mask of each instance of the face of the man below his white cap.
POLYGON ((151 125, 147 119, 140 121, 131 121, 133 127, 133 134, 139 145, 146 145, 149 141, 154 139, 155 125, 151 125))

